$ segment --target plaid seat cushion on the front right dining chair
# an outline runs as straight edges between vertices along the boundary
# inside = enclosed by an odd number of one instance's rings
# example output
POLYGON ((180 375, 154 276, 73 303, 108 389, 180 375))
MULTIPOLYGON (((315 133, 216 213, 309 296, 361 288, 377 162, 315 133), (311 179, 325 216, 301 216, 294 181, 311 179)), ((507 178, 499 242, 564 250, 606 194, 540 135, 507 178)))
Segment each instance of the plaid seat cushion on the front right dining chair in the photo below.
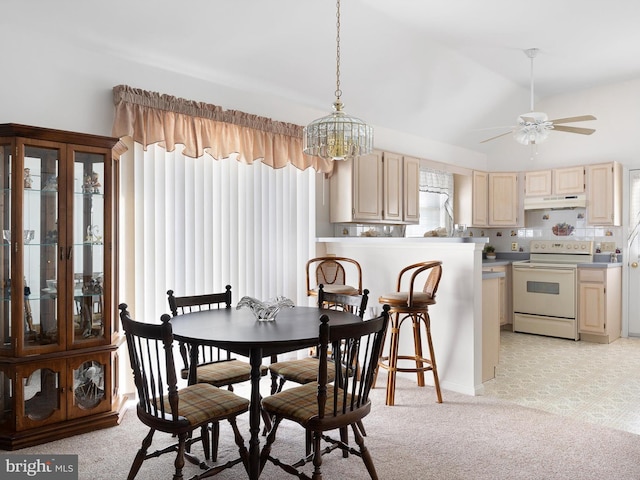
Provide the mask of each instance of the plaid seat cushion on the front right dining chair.
MULTIPOLYGON (((332 415, 334 386, 327 385, 327 407, 325 415, 332 415)), ((342 390, 338 395, 342 395, 342 390)), ((270 415, 277 415, 305 425, 318 415, 318 383, 312 382, 283 390, 262 400, 262 408, 270 415)), ((351 396, 347 396, 350 403, 351 396)))

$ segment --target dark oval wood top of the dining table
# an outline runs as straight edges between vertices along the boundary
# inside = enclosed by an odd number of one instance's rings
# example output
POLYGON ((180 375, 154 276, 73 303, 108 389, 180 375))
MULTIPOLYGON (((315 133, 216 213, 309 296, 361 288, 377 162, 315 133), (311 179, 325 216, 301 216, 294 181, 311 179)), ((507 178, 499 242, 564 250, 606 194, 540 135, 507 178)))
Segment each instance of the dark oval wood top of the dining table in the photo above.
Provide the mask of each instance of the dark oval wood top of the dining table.
POLYGON ((283 308, 273 322, 259 322, 248 308, 231 307, 178 315, 171 325, 178 340, 211 344, 245 356, 252 348, 260 348, 268 356, 317 344, 323 314, 329 316, 329 325, 362 321, 347 312, 293 307, 283 308))

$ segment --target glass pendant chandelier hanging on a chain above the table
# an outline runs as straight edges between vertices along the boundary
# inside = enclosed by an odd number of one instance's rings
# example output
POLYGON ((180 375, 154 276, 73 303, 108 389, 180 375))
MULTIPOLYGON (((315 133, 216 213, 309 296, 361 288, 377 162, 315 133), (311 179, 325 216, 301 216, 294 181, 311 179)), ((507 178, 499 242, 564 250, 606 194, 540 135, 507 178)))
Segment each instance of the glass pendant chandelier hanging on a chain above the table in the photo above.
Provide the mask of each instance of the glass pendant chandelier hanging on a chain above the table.
POLYGON ((333 113, 318 118, 304 128, 303 149, 307 155, 326 160, 348 160, 373 150, 373 127, 347 115, 340 101, 340 0, 336 14, 336 101, 333 113))

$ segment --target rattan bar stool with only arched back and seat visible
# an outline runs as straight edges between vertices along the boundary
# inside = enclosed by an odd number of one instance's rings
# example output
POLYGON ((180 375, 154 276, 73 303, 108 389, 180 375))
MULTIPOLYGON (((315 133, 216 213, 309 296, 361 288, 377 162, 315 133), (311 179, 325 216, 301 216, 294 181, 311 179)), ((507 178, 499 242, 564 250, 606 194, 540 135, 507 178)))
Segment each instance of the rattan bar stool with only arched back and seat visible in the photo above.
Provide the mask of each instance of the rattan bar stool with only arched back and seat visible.
POLYGON ((305 267, 307 277, 307 295, 318 295, 318 286, 324 285, 326 293, 341 293, 344 295, 362 294, 362 268, 360 264, 348 257, 316 257, 307 262, 305 267), (356 285, 347 285, 347 267, 349 272, 355 272, 356 285), (312 286, 311 278, 315 285, 312 286))

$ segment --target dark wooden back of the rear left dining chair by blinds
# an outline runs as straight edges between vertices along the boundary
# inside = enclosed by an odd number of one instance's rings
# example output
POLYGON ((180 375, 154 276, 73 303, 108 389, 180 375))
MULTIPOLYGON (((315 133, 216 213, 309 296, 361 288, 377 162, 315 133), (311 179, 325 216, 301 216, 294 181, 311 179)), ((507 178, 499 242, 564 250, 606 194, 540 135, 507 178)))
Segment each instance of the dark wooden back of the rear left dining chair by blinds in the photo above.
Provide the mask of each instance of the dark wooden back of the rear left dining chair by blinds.
MULTIPOLYGON (((176 297, 173 290, 168 290, 167 295, 169 308, 174 317, 185 313, 199 312, 203 310, 231 308, 231 285, 227 285, 225 287, 225 291, 220 293, 176 297)), ((179 342, 179 348, 183 363, 181 376, 185 379, 188 378, 189 374, 192 348, 198 349, 198 365, 208 365, 234 360, 228 350, 209 345, 179 342)), ((189 383, 194 383, 195 381, 195 379, 189 379, 189 383)))

